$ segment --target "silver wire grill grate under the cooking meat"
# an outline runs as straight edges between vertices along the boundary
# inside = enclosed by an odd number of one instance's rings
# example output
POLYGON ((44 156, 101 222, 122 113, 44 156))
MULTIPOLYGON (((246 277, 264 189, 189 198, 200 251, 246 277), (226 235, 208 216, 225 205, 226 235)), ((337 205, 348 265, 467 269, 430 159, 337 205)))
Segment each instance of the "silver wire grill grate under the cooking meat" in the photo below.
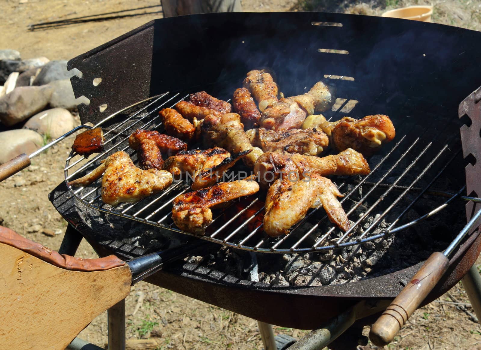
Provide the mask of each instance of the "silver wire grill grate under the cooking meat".
MULTIPOLYGON (((136 129, 159 130, 162 127, 159 110, 173 107, 187 96, 180 93, 165 93, 151 98, 135 111, 119 114, 108 120, 101 125, 106 139, 105 151, 92 159, 72 152, 66 160, 65 181, 82 176, 97 167, 102 159, 121 150, 126 151, 137 164, 136 151, 128 146, 129 135, 136 129)), ((348 101, 349 99, 345 99, 338 104, 340 107, 329 112, 331 119, 341 117, 340 113, 348 101)), ((328 113, 325 116, 329 117, 328 113)), ((430 190, 437 180, 443 178, 441 175, 449 168, 459 151, 452 151, 453 145, 437 145, 432 141, 423 142, 424 139, 429 138, 423 135, 416 138, 404 135, 397 143, 385 146, 385 154, 382 157, 374 156, 369 159, 372 170, 364 178, 357 176, 335 179, 339 183, 339 190, 344 194, 342 206, 352 221, 351 229, 346 232, 332 226, 323 209, 316 208, 311 209, 306 217, 291 229, 289 235, 281 238, 268 237, 262 229, 266 193, 261 191, 256 196, 241 198, 222 210, 213 211, 213 221, 206 229, 205 236, 201 238, 234 248, 265 253, 320 252, 382 239, 417 224, 446 207, 453 199, 460 198, 461 192, 464 191, 464 187, 456 189, 455 194, 430 190), (422 185, 415 187, 421 183, 422 185), (414 194, 417 195, 412 198, 414 194), (423 195, 438 198, 448 196, 449 199, 439 207, 427 210, 425 216, 396 227, 423 195), (380 205, 382 202, 390 204, 380 205), (394 208, 396 209, 393 210, 394 208), (370 218, 372 221, 367 225, 370 218)), ((231 174, 230 181, 239 179, 239 172, 236 176, 233 172, 231 174)), ((165 191, 137 203, 111 206, 101 200, 101 179, 86 187, 69 189, 77 200, 100 212, 176 232, 182 231, 177 229, 171 219, 172 201, 177 195, 191 191, 190 184, 186 181, 174 181, 165 191)), ((461 199, 479 201, 470 197, 461 199)))

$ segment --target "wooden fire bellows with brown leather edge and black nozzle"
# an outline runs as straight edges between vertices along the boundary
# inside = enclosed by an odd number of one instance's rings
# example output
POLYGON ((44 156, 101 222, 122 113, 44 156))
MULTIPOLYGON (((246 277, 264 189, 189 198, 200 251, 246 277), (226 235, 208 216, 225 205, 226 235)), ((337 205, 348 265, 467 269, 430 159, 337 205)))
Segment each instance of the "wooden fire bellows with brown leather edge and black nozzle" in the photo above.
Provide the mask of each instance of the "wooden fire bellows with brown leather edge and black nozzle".
POLYGON ((129 262, 114 255, 80 259, 0 226, 1 348, 65 349, 96 316, 125 299, 131 285, 205 244, 188 243, 129 262))

